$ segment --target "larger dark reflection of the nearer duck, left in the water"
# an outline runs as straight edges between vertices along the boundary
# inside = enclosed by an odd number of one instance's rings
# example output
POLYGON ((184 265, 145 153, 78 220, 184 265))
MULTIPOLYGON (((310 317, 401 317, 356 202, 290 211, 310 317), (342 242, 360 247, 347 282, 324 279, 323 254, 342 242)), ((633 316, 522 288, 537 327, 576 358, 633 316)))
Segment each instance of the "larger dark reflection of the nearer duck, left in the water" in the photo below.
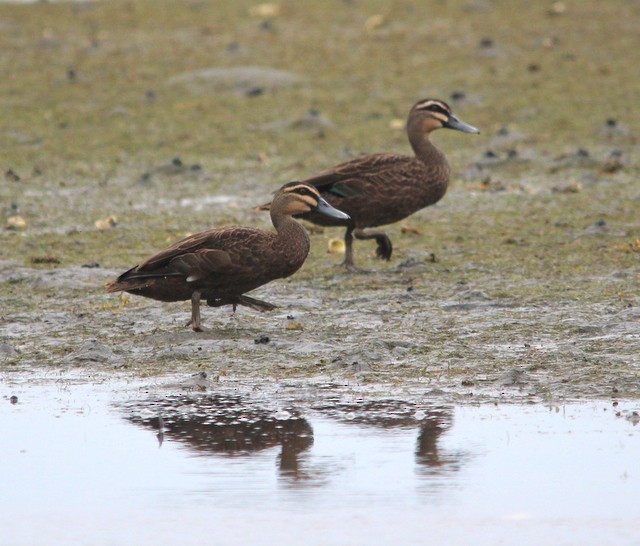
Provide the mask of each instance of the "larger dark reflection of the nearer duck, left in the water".
POLYGON ((313 444, 311 425, 294 409, 273 411, 239 396, 166 396, 126 404, 127 419, 158 430, 158 441, 171 438, 200 454, 247 455, 281 446, 280 473, 300 473, 300 454, 313 444))

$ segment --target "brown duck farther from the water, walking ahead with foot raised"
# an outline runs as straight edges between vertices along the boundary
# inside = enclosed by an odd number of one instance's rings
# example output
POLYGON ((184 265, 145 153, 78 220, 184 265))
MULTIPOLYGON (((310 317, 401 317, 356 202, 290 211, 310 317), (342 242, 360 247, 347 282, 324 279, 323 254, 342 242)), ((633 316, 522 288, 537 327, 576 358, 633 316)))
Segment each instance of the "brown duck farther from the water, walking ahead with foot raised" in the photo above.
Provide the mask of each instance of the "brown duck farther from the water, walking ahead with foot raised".
MULTIPOLYGON (((450 167, 445 155, 430 140, 436 129, 455 129, 479 133, 460 121, 441 100, 424 99, 409 112, 407 134, 414 157, 372 154, 326 169, 304 180, 318 188, 331 205, 346 212, 349 220, 318 215, 315 211, 301 218, 323 226, 346 226, 343 265, 356 270, 353 238, 375 239, 379 258, 389 260, 393 246, 384 231, 364 228, 393 224, 414 212, 433 205, 447 191, 450 167)), ((259 207, 267 210, 269 205, 259 207)))

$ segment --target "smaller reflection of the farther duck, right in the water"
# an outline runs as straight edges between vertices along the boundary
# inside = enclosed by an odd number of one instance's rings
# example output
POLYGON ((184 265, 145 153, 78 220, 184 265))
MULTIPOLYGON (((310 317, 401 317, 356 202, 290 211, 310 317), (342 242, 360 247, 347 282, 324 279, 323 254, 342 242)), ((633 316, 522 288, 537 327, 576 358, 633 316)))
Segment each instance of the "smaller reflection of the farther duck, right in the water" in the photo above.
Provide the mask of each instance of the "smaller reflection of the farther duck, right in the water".
POLYGON ((453 426, 452 408, 429 407, 400 400, 363 400, 349 403, 331 401, 313 409, 344 423, 380 428, 418 428, 416 463, 425 476, 456 472, 468 458, 464 451, 438 447, 440 436, 453 426))

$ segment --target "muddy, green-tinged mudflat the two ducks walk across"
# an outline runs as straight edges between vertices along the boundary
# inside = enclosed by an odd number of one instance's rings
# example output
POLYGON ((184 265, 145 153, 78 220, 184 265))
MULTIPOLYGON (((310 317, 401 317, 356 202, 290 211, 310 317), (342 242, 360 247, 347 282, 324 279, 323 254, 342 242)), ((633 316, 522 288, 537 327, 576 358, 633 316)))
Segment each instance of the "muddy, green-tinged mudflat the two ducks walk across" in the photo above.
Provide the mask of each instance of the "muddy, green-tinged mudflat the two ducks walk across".
POLYGON ((0 366, 327 396, 640 397, 640 3, 205 1, 0 5, 0 366), (210 226, 269 227, 282 183, 409 153, 418 99, 445 198, 346 274, 312 231, 269 314, 106 294, 210 226), (307 389, 304 389, 308 392, 307 389))

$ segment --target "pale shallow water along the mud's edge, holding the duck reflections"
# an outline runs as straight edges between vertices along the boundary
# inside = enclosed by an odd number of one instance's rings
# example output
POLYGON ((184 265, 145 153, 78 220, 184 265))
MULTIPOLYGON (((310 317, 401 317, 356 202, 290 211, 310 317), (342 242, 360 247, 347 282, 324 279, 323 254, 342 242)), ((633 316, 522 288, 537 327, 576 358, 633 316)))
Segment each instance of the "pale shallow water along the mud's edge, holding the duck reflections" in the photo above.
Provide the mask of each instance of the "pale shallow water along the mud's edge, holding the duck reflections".
POLYGON ((85 381, 2 384, 1 544, 640 537, 637 403, 294 404, 85 381))

